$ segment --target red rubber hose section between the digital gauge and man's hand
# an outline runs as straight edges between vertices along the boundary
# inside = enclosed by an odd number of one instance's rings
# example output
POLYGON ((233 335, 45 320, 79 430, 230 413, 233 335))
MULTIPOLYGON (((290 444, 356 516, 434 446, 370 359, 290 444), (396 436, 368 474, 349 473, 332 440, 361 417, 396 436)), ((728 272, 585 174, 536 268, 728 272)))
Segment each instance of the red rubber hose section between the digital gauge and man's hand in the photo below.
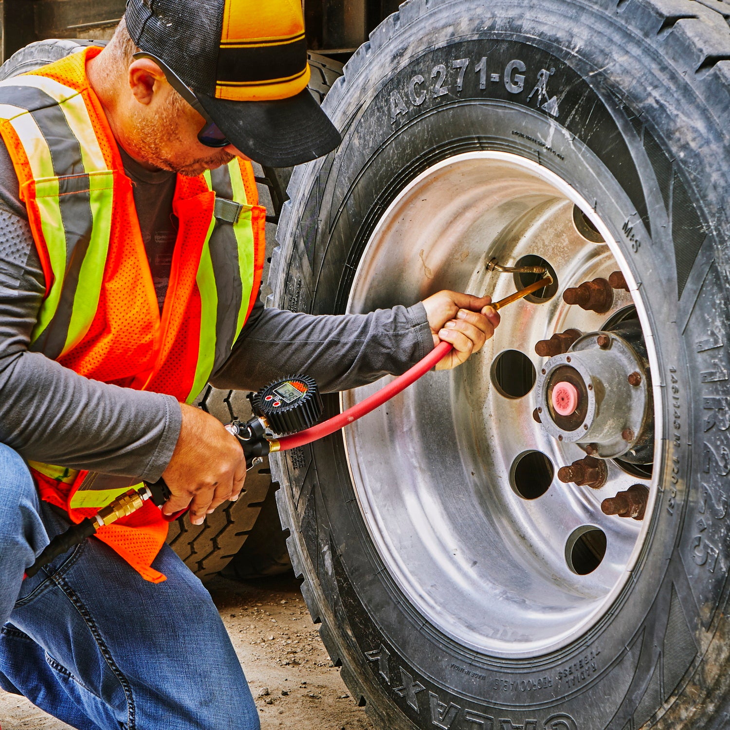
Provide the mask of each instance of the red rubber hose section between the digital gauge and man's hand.
MULTIPOLYGON (((375 410, 378 406, 383 405, 385 401, 398 395, 398 393, 407 388, 411 383, 415 383, 419 377, 429 372, 431 368, 436 366, 438 362, 442 361, 448 355, 451 347, 450 342, 439 342, 423 360, 418 361, 410 370, 396 377, 392 383, 388 383, 388 385, 385 385, 385 388, 381 388, 377 393, 368 396, 364 401, 348 408, 346 411, 342 411, 342 413, 338 413, 323 423, 312 426, 311 429, 299 431, 298 434, 292 434, 291 436, 278 439, 278 450, 286 451, 296 446, 310 444, 312 441, 322 439, 329 436, 329 434, 334 434, 335 431, 339 431, 339 429, 347 426, 348 423, 352 423, 353 420, 358 420, 358 418, 361 418, 366 413, 375 410)), ((272 451, 274 450, 276 449, 272 448, 272 451)))

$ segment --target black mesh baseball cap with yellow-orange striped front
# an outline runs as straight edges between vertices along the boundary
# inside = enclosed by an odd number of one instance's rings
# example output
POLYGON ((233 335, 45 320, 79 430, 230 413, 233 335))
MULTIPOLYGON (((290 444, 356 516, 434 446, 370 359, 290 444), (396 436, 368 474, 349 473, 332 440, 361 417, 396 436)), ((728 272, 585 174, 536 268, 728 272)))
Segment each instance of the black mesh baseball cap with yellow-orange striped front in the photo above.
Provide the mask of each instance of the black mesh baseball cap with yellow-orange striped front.
POLYGON ((172 69, 252 160, 298 165, 341 142, 307 89, 299 0, 127 0, 125 20, 137 47, 172 69))

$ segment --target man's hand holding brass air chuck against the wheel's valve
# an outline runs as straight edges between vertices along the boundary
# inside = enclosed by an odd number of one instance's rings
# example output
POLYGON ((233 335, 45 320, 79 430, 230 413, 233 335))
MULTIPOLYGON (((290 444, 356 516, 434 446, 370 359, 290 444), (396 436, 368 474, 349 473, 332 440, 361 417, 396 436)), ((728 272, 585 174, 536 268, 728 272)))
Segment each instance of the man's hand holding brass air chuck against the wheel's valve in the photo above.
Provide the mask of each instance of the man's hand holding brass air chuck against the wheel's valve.
POLYGON ((458 291, 439 291, 423 300, 434 345, 442 340, 453 345, 453 350, 437 364, 437 370, 449 370, 466 362, 494 334, 499 314, 489 306, 491 301, 491 296, 458 291))

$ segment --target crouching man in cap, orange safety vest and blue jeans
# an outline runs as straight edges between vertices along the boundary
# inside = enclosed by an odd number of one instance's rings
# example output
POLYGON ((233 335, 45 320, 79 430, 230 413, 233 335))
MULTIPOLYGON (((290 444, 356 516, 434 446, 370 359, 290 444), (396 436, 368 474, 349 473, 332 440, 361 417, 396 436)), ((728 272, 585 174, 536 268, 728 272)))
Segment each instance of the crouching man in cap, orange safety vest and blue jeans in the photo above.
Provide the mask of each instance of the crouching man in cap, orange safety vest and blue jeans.
POLYGON ((249 159, 339 142, 310 97, 299 0, 130 0, 101 52, 0 84, 0 686, 80 729, 258 728, 199 581, 147 504, 23 572, 71 520, 164 477, 166 515, 237 499, 238 442, 204 383, 397 374, 465 361, 488 299, 322 316, 264 310, 249 159), (209 172, 210 171, 210 172, 209 172))

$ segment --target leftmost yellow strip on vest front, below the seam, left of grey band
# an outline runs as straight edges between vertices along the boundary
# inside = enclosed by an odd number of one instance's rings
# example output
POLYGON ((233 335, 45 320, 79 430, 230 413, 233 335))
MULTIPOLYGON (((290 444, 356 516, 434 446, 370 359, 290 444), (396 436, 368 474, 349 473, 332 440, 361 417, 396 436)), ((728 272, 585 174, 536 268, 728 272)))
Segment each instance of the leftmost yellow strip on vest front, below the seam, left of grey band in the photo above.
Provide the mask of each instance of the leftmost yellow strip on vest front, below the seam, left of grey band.
POLYGON ((41 305, 36 325, 31 333, 31 342, 35 342, 53 319, 58 309, 58 301, 61 299, 61 288, 66 275, 66 231, 61 218, 61 207, 58 204, 58 178, 36 181, 36 203, 50 267, 53 270, 53 284, 41 305))

